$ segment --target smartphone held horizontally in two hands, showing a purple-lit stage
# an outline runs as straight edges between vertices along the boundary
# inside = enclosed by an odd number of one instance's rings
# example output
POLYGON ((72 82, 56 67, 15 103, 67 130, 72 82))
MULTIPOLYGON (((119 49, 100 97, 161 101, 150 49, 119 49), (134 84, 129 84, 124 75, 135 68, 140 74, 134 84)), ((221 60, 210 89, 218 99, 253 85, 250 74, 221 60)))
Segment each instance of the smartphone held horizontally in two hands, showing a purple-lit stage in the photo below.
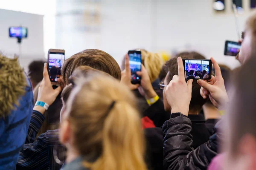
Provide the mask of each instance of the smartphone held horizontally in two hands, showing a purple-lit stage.
POLYGON ((210 59, 182 59, 185 69, 185 79, 212 78, 212 61, 210 59))

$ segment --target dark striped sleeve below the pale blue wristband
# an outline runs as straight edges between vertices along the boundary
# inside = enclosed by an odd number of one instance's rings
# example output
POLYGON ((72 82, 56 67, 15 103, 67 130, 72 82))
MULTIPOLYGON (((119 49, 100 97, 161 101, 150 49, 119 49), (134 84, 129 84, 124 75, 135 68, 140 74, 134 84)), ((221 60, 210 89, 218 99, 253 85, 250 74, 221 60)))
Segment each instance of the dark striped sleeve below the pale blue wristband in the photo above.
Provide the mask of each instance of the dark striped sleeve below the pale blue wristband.
POLYGON ((35 142, 35 137, 38 134, 42 124, 44 122, 44 115, 38 111, 34 111, 29 122, 29 130, 26 136, 25 144, 35 142))

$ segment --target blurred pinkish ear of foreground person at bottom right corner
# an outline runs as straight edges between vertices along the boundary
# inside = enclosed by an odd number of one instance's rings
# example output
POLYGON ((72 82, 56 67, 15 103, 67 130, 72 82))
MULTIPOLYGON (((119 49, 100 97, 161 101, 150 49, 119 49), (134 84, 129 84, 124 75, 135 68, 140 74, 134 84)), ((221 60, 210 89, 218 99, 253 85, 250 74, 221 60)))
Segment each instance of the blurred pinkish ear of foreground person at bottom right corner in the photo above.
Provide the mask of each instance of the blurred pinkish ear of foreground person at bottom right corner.
POLYGON ((248 168, 256 169, 256 138, 253 135, 244 135, 239 142, 239 153, 247 158, 248 168))

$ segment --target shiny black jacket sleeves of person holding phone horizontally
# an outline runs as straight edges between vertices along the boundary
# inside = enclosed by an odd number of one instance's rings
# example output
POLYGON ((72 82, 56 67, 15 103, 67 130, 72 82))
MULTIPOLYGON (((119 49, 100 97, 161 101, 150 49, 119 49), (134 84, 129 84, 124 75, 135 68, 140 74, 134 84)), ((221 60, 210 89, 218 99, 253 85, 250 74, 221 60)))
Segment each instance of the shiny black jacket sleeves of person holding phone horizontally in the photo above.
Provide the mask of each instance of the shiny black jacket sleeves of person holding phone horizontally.
POLYGON ((164 123, 164 170, 206 170, 210 161, 217 155, 218 133, 213 134, 208 142, 194 150, 191 132, 192 123, 186 116, 178 116, 164 123))

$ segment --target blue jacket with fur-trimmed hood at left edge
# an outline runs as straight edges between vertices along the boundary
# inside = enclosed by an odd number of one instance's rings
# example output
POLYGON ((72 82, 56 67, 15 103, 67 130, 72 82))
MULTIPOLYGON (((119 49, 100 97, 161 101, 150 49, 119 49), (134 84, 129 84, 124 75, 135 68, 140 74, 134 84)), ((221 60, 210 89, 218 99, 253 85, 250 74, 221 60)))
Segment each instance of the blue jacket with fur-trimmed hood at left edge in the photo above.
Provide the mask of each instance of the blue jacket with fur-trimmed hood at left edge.
POLYGON ((16 170, 19 150, 26 139, 34 103, 28 77, 27 83, 26 93, 19 100, 20 105, 5 119, 0 118, 0 170, 16 170))

